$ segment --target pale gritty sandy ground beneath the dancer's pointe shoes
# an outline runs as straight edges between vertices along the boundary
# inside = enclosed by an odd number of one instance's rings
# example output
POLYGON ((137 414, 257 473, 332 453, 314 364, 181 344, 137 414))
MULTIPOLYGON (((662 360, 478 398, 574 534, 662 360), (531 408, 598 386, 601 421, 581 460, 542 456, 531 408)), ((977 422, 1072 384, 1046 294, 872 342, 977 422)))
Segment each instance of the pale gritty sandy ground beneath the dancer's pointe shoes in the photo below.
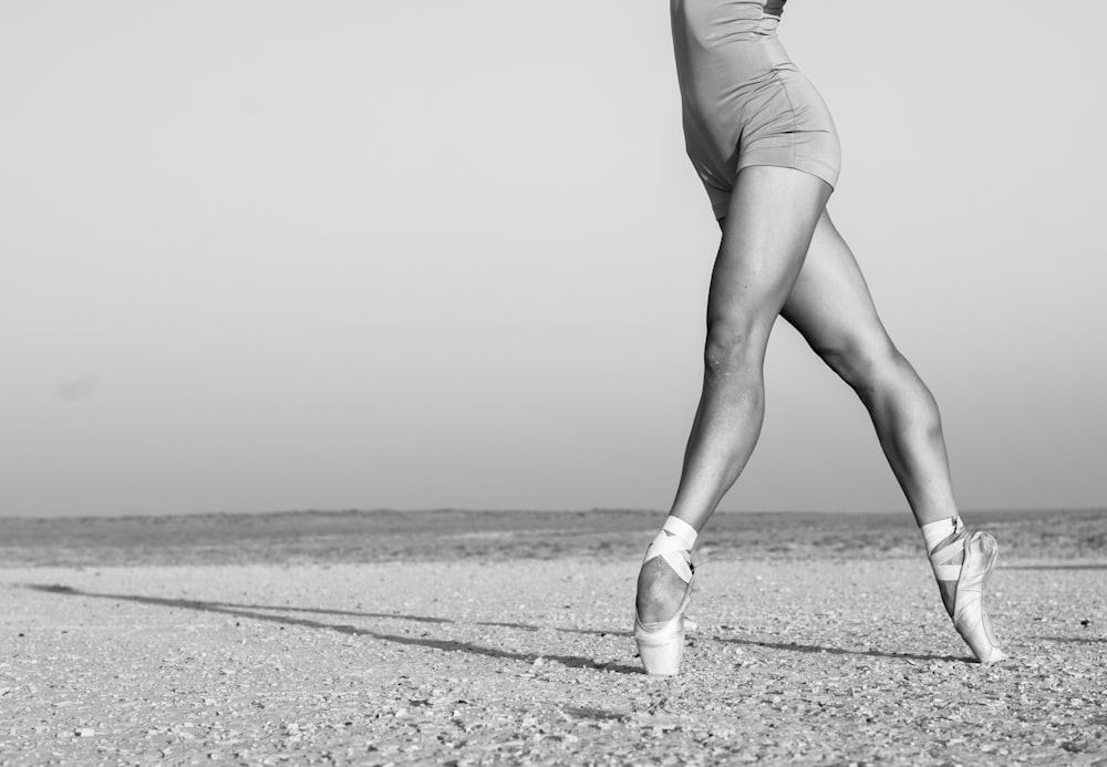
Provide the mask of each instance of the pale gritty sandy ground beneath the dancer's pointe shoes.
POLYGON ((0 569, 0 764, 1107 765, 1104 560, 1007 560, 983 668, 921 557, 0 569))

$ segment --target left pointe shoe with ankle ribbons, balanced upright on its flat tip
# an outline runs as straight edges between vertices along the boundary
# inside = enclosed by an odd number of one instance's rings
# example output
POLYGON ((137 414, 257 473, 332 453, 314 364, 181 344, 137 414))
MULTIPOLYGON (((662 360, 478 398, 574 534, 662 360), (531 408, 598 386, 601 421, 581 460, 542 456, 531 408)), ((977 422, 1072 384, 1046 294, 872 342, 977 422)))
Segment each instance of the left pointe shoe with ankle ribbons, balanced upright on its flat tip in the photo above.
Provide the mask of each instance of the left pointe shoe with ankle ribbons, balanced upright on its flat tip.
POLYGON ((676 612, 668 621, 643 623, 638 614, 638 608, 634 609, 634 642, 638 644, 638 654, 642 659, 646 674, 673 676, 680 673, 681 659, 684 656, 684 630, 695 625, 692 621, 687 621, 689 625, 685 626, 684 620, 684 611, 692 601, 692 584, 695 582, 691 552, 695 542, 695 530, 675 517, 666 519, 662 530, 673 535, 658 536, 646 549, 643 564, 661 557, 687 585, 676 612))

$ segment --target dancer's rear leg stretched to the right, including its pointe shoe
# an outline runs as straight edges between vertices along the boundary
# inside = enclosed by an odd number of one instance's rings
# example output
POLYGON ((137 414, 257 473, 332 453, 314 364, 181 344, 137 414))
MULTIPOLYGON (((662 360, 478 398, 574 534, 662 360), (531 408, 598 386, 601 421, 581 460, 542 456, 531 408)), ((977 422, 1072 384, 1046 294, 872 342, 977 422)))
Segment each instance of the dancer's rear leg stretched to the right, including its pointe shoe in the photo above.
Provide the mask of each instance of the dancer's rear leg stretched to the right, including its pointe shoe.
POLYGON ((922 529, 946 611, 982 663, 1002 660, 981 602, 995 541, 964 530, 934 397, 888 338, 853 255, 825 211, 782 314, 861 397, 922 529))

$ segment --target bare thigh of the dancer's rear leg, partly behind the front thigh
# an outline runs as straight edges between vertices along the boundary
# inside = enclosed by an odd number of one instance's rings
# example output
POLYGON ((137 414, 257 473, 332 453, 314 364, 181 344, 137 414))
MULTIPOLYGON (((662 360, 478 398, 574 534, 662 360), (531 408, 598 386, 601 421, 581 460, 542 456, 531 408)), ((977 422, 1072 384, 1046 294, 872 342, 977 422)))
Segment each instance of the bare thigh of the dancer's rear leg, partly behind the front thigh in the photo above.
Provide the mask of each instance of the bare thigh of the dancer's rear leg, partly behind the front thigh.
POLYGON ((825 210, 780 314, 836 367, 842 356, 891 344, 861 269, 825 210))

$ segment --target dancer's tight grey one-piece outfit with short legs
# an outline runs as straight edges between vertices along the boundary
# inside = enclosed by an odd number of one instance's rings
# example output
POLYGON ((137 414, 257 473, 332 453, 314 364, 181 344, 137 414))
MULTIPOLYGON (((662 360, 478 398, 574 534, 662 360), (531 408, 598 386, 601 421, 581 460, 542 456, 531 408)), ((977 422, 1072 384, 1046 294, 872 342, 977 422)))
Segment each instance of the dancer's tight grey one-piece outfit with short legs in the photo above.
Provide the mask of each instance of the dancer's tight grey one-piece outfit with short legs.
POLYGON ((726 216, 738 170, 796 168, 831 188, 841 167, 830 112, 776 35, 764 0, 671 0, 689 157, 726 216))

